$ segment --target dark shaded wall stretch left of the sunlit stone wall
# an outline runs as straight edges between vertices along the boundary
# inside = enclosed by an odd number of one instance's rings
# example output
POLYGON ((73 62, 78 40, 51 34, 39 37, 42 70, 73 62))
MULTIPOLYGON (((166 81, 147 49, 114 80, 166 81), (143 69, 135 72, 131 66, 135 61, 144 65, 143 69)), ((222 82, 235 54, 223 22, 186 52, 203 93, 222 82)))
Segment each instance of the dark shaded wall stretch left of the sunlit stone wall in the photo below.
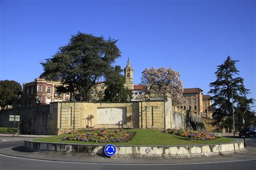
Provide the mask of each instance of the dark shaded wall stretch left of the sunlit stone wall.
MULTIPOLYGON (((12 128, 14 122, 9 121, 9 115, 20 115, 21 134, 56 134, 57 115, 50 112, 50 105, 41 105, 23 109, 8 109, 0 111, 0 127, 12 128)), ((16 124, 17 127, 17 124, 16 124)))

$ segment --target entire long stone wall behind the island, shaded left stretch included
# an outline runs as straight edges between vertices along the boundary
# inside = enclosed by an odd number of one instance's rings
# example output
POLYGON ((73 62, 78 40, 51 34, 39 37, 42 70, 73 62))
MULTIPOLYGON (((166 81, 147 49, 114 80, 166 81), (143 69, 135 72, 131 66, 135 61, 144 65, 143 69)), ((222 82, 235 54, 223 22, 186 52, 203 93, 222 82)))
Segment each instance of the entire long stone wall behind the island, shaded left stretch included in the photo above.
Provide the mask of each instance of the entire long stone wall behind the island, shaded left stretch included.
MULTIPOLYGON (((0 127, 13 127, 9 115, 21 115, 23 134, 62 134, 79 128, 182 128, 186 113, 172 110, 169 96, 161 100, 96 103, 54 102, 22 110, 1 110, 0 127)), ((202 122, 201 117, 191 117, 202 122)))

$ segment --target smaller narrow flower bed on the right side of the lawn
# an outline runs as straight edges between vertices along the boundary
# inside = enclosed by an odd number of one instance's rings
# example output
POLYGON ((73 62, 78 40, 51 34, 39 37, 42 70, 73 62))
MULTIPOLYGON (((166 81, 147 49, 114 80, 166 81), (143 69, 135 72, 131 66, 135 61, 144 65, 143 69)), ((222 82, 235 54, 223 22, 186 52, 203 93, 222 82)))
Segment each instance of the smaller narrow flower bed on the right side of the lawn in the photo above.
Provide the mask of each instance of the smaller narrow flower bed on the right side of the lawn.
POLYGON ((194 139, 194 140, 212 140, 216 137, 212 133, 208 132, 197 132, 194 130, 184 129, 166 129, 162 131, 164 133, 176 134, 178 136, 194 139))

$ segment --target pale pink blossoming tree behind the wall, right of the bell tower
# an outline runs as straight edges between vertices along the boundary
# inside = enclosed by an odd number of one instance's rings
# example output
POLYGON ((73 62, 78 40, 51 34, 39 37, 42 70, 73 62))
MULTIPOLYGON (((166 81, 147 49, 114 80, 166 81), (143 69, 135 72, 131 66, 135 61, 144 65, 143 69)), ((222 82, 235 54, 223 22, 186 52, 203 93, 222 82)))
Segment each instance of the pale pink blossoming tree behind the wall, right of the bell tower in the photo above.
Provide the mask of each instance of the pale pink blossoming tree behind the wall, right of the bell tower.
POLYGON ((169 93, 173 103, 182 103, 183 84, 179 72, 172 68, 146 68, 142 72, 142 84, 145 84, 145 94, 169 93))

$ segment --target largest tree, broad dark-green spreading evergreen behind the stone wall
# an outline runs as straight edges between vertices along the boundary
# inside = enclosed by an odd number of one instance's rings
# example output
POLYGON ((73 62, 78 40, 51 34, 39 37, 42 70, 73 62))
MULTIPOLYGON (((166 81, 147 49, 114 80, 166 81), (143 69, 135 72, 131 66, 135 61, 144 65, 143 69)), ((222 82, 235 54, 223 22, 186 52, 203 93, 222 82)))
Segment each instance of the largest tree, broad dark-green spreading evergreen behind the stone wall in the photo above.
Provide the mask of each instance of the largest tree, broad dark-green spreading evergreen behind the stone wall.
POLYGON ((45 79, 61 80, 64 86, 58 91, 70 91, 83 101, 88 101, 90 89, 104 78, 114 60, 120 56, 117 40, 95 37, 78 32, 69 44, 59 48, 53 58, 42 62, 45 79))

